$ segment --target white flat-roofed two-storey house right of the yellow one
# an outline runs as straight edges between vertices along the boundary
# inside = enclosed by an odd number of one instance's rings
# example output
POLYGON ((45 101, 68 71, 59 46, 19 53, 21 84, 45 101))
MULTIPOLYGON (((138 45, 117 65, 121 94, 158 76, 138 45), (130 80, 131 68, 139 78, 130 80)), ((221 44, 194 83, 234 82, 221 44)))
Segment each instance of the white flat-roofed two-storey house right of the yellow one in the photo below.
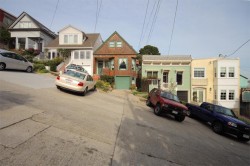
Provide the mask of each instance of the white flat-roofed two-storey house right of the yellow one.
POLYGON ((233 109, 240 108, 240 60, 220 57, 213 61, 214 103, 233 109))

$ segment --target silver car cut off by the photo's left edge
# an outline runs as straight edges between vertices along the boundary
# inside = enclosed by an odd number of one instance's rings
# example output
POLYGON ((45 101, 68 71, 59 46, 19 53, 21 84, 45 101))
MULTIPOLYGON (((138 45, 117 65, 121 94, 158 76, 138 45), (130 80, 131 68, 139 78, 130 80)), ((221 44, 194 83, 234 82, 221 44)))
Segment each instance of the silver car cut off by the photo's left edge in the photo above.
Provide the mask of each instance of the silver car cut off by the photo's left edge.
POLYGON ((14 52, 0 49, 0 70, 16 69, 32 72, 33 64, 14 52))

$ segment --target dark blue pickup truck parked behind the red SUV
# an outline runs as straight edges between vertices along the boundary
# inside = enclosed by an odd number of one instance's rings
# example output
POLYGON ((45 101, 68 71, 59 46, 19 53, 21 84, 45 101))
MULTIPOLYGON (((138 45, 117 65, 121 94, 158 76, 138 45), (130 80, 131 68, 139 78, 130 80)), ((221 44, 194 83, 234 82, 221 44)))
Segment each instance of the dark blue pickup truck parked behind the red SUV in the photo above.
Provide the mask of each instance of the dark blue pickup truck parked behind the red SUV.
POLYGON ((187 103, 186 106, 189 116, 209 122, 215 133, 229 133, 242 141, 250 140, 250 125, 239 120, 231 109, 207 102, 200 106, 187 103))

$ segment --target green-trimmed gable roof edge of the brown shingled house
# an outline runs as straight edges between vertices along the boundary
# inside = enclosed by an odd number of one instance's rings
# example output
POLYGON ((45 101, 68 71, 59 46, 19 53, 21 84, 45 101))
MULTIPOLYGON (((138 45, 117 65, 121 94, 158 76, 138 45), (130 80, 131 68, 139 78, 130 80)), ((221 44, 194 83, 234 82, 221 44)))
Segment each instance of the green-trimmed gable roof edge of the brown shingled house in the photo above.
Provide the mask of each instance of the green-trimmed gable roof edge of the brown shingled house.
MULTIPOLYGON (((110 41, 110 39, 114 35, 117 35, 125 43, 125 45, 127 45, 128 48, 130 48, 129 54, 137 54, 137 52, 134 50, 134 48, 117 31, 115 31, 112 35, 110 35, 109 38, 107 40, 105 40, 105 42, 94 52, 94 54, 96 54, 96 55, 103 54, 103 53, 101 53, 102 48, 108 45, 108 42, 110 41)), ((104 53, 104 54, 107 54, 107 53, 104 53)), ((108 53, 108 54, 112 54, 112 53, 108 53)), ((114 54, 117 54, 117 53, 114 53, 114 54)), ((126 53, 124 53, 124 54, 126 54, 126 53)))

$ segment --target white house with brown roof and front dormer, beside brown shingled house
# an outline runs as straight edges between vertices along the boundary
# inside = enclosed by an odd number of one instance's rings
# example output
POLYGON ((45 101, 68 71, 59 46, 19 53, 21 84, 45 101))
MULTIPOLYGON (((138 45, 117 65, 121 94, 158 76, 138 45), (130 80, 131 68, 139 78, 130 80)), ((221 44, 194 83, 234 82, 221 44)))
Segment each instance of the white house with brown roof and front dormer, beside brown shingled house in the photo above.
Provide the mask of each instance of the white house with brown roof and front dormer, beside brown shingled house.
POLYGON ((93 75, 93 52, 103 43, 99 33, 84 33, 69 25, 58 32, 56 39, 45 48, 48 58, 60 56, 58 49, 71 51, 67 64, 82 65, 89 74, 93 75))

